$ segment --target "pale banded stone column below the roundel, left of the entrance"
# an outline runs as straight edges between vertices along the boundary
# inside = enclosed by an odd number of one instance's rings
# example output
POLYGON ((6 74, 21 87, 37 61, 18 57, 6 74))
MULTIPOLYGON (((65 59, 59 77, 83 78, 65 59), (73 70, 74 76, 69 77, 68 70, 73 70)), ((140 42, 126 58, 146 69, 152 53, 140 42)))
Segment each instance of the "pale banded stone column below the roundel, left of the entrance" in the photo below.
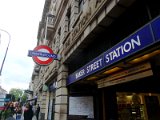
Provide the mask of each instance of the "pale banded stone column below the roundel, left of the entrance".
POLYGON ((67 120, 68 91, 66 88, 66 78, 68 69, 65 65, 60 65, 57 76, 57 89, 55 96, 54 120, 67 120))

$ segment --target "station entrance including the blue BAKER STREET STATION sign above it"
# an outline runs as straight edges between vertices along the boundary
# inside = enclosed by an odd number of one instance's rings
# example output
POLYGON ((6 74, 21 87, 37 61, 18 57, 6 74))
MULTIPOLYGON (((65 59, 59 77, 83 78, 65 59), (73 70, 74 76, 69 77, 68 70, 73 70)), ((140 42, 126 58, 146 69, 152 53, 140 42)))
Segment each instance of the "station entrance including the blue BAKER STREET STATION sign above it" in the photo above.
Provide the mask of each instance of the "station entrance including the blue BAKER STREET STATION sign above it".
POLYGON ((97 86, 92 91, 92 119, 160 119, 159 31, 158 16, 69 75, 68 86, 97 86))

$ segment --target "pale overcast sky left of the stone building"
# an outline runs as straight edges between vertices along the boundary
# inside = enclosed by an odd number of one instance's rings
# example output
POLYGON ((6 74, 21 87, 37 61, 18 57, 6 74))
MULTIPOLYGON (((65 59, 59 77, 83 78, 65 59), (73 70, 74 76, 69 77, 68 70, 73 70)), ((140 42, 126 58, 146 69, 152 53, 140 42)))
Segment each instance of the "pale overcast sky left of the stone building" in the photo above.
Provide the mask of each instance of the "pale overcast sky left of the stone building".
POLYGON ((0 86, 8 92, 12 88, 29 88, 35 63, 28 50, 36 47, 44 3, 45 0, 0 0, 0 67, 10 41, 0 86))

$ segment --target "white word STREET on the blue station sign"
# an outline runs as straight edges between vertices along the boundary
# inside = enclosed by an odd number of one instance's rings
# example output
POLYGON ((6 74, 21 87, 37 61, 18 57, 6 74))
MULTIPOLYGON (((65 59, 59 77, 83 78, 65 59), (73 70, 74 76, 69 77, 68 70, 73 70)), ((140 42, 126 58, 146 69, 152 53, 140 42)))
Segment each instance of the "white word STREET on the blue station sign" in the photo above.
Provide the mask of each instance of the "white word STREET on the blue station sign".
POLYGON ((99 68, 100 66, 102 66, 102 58, 95 61, 93 64, 90 64, 87 66, 87 73, 96 70, 97 68, 99 68))

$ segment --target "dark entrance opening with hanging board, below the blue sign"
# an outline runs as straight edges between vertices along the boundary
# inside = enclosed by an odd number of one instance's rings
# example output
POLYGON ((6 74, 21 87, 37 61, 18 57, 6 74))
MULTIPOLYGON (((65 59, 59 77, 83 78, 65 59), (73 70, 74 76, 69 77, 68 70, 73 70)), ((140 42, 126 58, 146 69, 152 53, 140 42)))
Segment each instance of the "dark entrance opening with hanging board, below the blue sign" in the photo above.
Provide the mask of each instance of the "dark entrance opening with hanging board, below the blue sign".
POLYGON ((160 69, 155 70, 155 63, 136 64, 97 82, 105 101, 103 119, 160 119, 160 69))

